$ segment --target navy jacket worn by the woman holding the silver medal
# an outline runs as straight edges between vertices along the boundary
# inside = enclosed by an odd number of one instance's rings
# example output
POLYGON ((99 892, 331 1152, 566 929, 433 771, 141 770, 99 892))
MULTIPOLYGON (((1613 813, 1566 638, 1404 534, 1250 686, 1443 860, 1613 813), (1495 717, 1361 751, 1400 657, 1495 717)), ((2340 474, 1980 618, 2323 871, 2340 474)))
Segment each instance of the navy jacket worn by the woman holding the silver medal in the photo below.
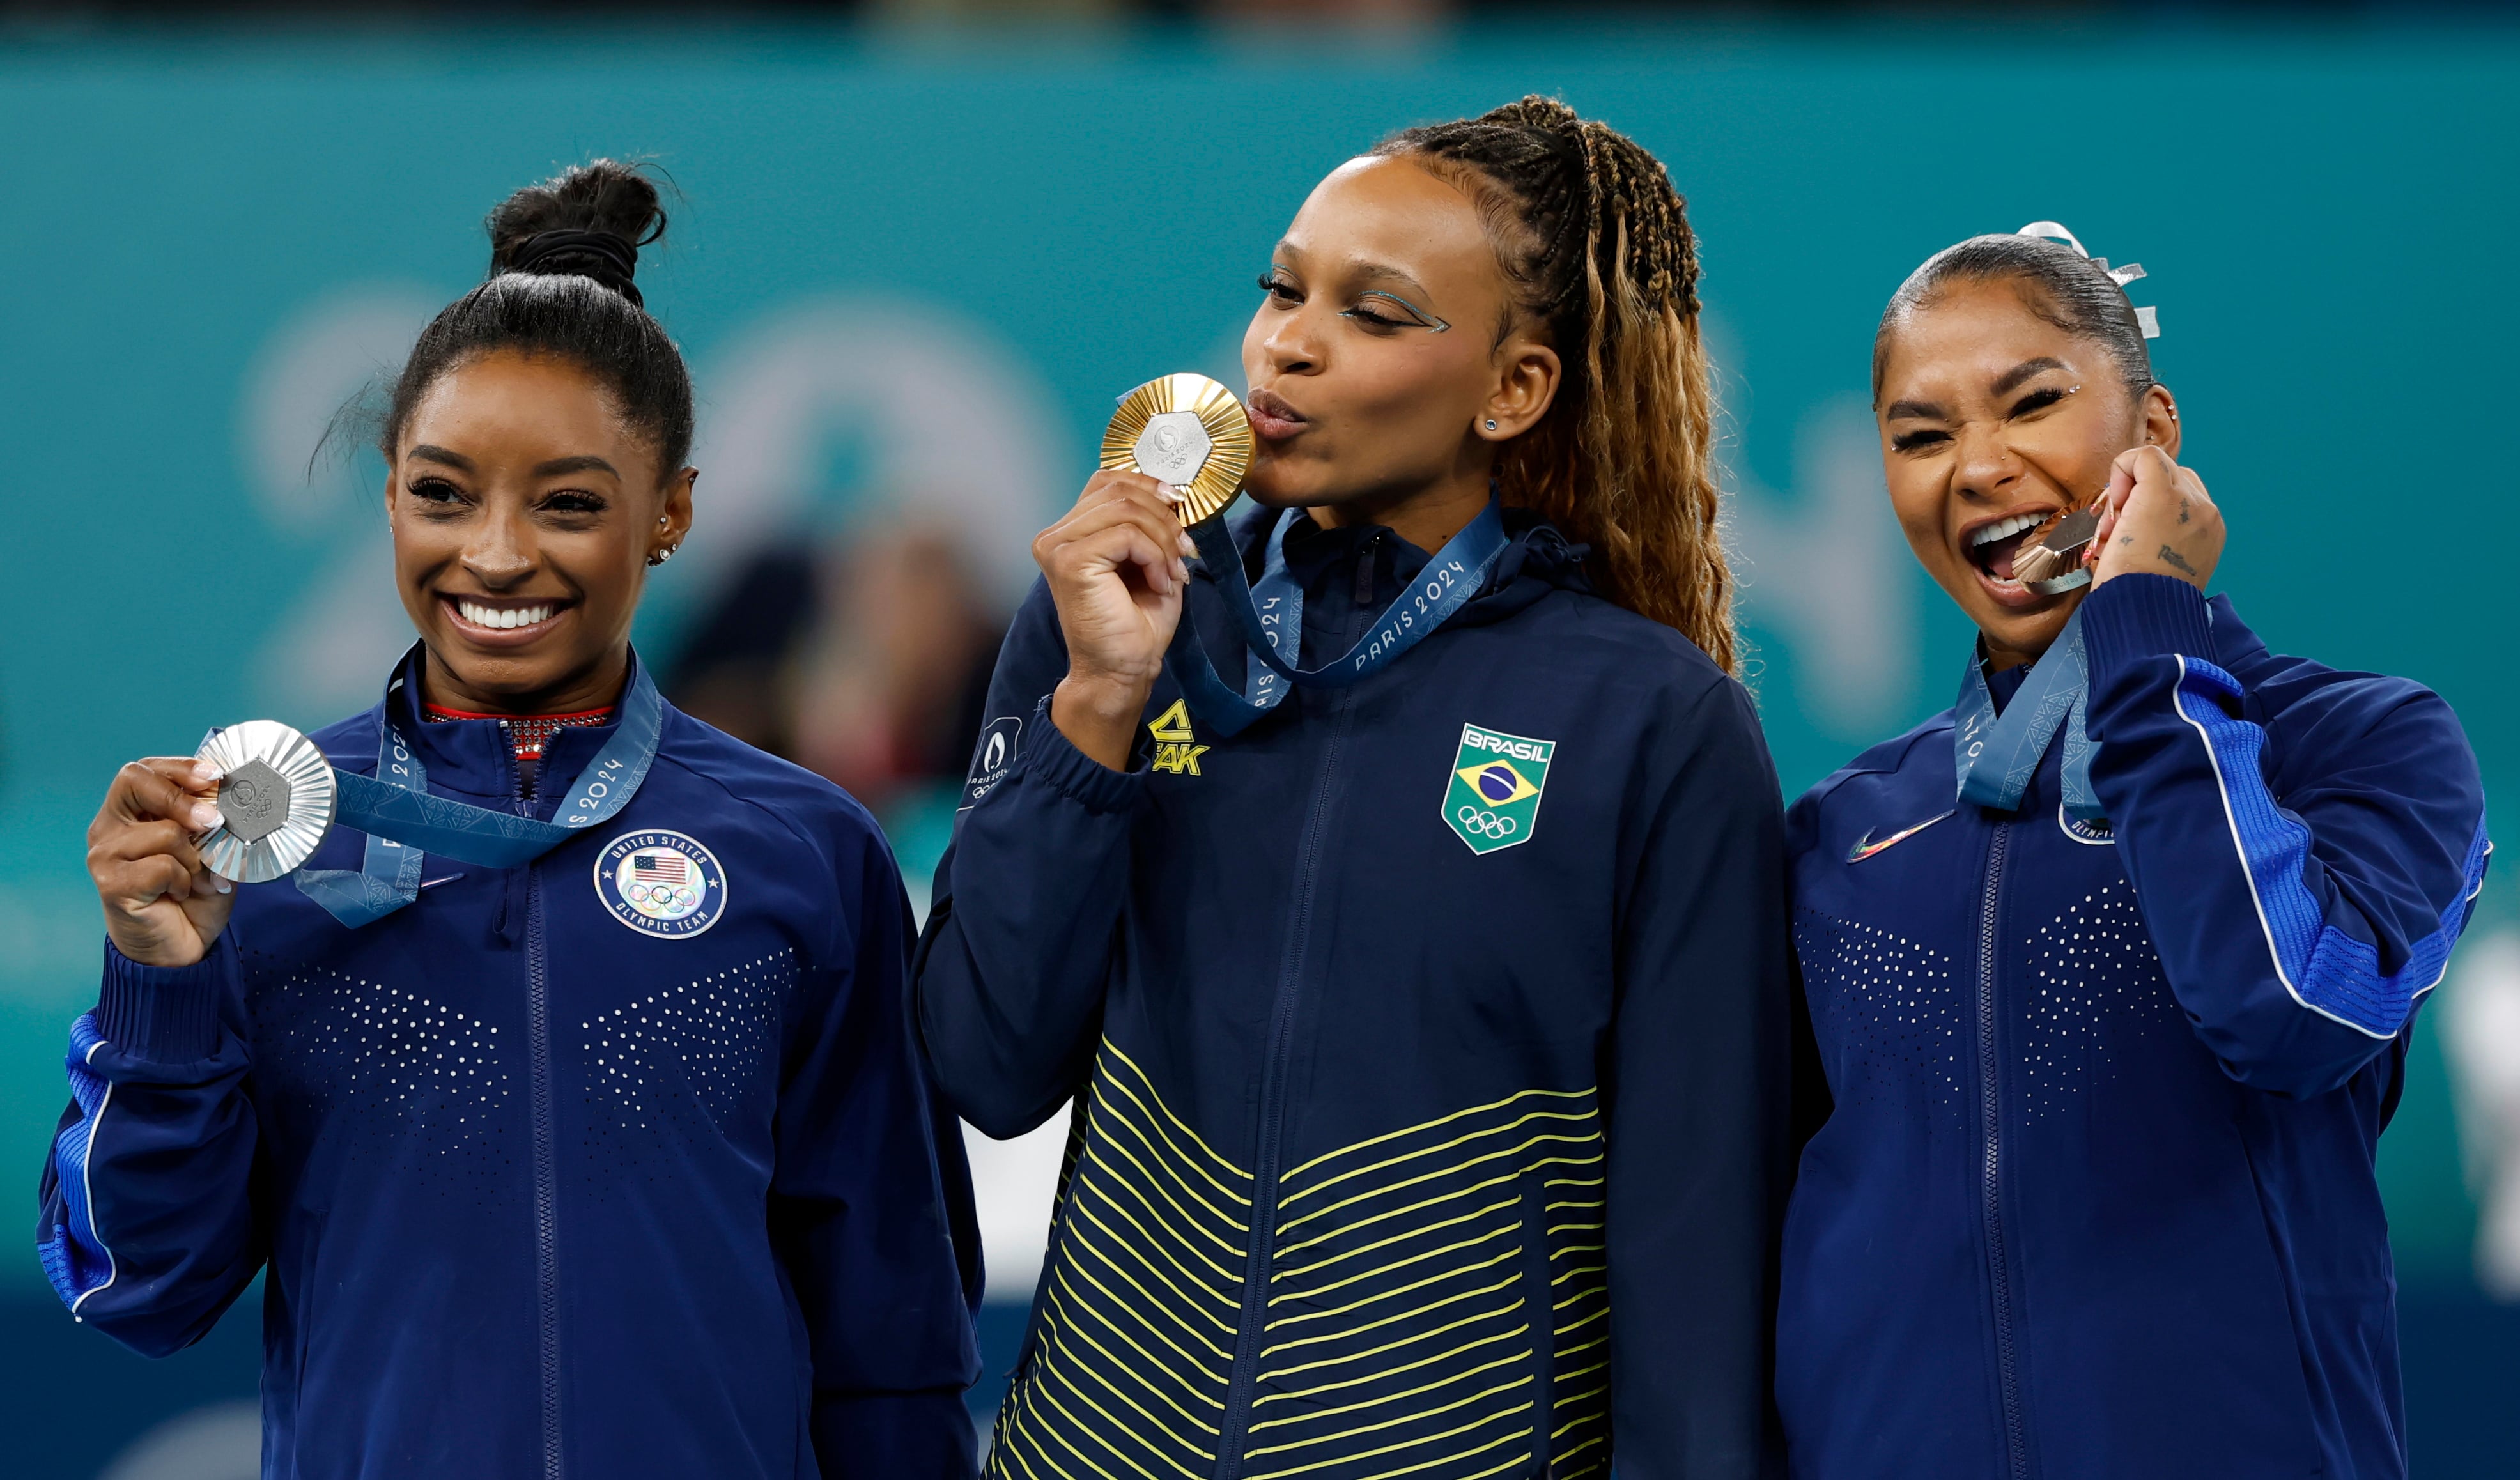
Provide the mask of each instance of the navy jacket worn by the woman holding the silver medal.
MULTIPOLYGON (((401 693, 431 792, 519 807, 496 721, 401 693)), ((315 744, 373 772, 378 714, 315 744)), ((360 930, 282 880, 199 966, 108 945, 43 1175, 71 1311, 164 1354, 267 1268, 275 1480, 970 1475, 970 1182, 872 817, 668 708, 610 824, 426 865, 360 930), (638 910, 640 867, 693 898, 638 910)))

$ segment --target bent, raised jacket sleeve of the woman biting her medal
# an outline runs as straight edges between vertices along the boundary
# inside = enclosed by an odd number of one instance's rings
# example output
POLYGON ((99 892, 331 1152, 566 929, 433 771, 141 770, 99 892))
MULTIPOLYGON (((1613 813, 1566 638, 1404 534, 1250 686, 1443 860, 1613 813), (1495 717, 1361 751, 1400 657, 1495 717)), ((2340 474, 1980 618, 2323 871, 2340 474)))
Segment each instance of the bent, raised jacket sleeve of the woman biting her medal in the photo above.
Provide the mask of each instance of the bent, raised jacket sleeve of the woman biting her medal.
POLYGON ((2225 1069, 2318 1094, 2369 1064, 2439 981, 2485 867, 2472 756, 2437 698, 2268 731, 2215 663, 2185 582, 2122 577, 2084 608, 2092 782, 2172 991, 2225 1069))

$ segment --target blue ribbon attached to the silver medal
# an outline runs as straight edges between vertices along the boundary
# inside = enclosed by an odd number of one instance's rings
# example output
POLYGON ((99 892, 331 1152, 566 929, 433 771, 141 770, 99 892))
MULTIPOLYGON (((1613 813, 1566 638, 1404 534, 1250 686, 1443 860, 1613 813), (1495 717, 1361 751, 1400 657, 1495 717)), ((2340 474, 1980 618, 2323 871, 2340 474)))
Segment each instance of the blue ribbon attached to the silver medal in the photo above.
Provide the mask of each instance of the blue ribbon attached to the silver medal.
POLYGON ((587 761, 587 769, 570 782, 549 822, 474 807, 428 794, 428 766, 393 724, 393 696, 403 688, 406 673, 408 658, 386 686, 386 706, 378 714, 375 774, 333 772, 338 787, 333 819, 368 835, 358 872, 302 867, 295 875, 302 895, 353 930, 421 898, 423 855, 438 852, 481 867, 517 867, 552 852, 587 827, 617 817, 638 794, 640 782, 648 779, 658 736, 665 731, 665 698, 633 653, 622 719, 587 761))

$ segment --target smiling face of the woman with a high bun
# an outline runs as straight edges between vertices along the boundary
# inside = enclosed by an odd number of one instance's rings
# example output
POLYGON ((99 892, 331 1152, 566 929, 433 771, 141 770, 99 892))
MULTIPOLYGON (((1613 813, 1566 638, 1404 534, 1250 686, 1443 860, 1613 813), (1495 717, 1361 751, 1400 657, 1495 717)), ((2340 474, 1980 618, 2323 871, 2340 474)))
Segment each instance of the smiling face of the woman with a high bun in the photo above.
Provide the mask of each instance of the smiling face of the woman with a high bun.
POLYGON ((486 714, 612 703, 648 555, 688 532, 693 477, 660 477, 570 361, 501 350, 438 376, 386 479, 428 696, 486 714))

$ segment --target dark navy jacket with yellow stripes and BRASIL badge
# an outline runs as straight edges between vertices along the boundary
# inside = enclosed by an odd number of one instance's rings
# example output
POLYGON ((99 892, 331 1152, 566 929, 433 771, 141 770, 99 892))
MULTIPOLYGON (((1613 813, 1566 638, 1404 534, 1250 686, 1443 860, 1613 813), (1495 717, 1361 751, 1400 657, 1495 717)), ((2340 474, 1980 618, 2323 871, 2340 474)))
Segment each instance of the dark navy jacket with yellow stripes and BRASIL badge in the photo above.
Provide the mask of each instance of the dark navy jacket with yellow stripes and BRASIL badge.
MULTIPOLYGON (((1509 529, 1484 595, 1353 688, 1222 739, 1167 678, 1129 772, 1048 721, 1048 590, 1016 618, 917 968, 965 1119, 1076 1102, 993 1475, 1598 1475, 1613 1437, 1628 1480, 1767 1462, 1774 769, 1739 683, 1509 529)), ((1300 522, 1303 661, 1424 562, 1300 522)), ((1205 570, 1189 620, 1237 683, 1205 570)))

